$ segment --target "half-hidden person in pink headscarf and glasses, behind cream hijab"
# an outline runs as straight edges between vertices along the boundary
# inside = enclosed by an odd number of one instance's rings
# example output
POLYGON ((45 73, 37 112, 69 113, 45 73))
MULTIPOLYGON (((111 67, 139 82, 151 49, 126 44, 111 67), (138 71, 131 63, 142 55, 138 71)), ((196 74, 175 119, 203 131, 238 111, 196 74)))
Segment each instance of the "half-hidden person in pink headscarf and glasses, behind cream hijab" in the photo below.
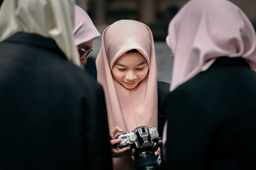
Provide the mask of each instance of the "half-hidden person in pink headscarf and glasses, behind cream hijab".
POLYGON ((87 58, 93 52, 93 41, 100 36, 100 33, 97 31, 92 19, 86 11, 77 5, 75 5, 75 25, 73 33, 80 62, 81 64, 86 64, 87 58))

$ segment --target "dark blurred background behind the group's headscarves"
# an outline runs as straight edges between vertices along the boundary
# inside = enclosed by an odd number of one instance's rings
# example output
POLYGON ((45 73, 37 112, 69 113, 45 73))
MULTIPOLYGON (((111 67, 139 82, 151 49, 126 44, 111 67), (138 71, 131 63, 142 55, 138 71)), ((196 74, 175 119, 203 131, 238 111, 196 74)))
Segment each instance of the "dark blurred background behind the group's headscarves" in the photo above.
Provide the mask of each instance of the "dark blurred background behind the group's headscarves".
MULTIPOLYGON (((158 69, 158 80, 170 83, 172 76, 172 57, 165 43, 168 24, 172 17, 189 0, 76 0, 93 20, 100 34, 116 20, 132 19, 147 24, 152 30, 158 69)), ((214 0, 212 0, 214 1, 214 0)), ((255 0, 231 0, 255 23, 255 0)), ((214 8, 214 6, 212 6, 214 8)), ((92 57, 100 50, 101 38, 93 44, 92 57)))

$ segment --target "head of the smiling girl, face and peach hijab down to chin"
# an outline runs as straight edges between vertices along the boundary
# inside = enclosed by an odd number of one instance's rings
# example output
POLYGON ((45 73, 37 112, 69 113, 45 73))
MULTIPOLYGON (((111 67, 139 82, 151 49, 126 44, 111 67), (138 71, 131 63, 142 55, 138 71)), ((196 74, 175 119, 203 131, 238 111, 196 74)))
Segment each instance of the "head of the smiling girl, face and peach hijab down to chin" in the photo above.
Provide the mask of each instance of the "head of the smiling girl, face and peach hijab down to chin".
MULTIPOLYGON (((104 64, 108 65, 106 69, 110 69, 111 77, 125 89, 135 89, 147 78, 152 60, 155 63, 152 33, 141 22, 119 20, 103 32, 100 57, 101 54, 106 59, 104 64)), ((155 69, 154 64, 153 67, 155 69)), ((102 76, 99 74, 101 69, 102 67, 97 66, 99 77, 102 76)))

